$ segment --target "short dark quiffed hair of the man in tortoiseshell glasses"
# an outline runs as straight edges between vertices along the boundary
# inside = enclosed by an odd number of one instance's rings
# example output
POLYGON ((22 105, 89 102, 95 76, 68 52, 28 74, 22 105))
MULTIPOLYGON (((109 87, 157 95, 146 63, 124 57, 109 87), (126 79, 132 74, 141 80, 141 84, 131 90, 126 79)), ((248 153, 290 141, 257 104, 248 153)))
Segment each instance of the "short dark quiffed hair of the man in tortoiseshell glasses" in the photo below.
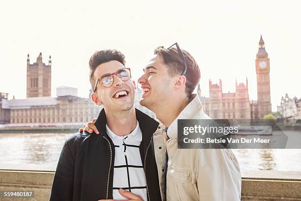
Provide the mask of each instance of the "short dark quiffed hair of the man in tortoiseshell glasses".
POLYGON ((118 61, 123 66, 125 65, 125 57, 118 50, 100 50, 94 52, 94 54, 91 56, 89 60, 89 67, 90 67, 90 83, 92 89, 96 83, 96 80, 93 77, 96 67, 110 61, 118 61))

